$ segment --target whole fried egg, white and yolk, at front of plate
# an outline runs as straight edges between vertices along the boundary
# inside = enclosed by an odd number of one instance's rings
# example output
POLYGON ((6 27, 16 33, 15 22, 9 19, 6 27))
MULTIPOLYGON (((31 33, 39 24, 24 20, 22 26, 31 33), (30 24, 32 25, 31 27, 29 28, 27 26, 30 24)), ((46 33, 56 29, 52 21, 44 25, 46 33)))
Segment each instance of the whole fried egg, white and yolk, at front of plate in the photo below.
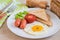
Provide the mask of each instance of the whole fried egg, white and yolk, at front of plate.
POLYGON ((27 24, 24 28, 24 31, 31 35, 44 35, 48 31, 48 26, 40 23, 40 22, 33 22, 30 24, 27 24))

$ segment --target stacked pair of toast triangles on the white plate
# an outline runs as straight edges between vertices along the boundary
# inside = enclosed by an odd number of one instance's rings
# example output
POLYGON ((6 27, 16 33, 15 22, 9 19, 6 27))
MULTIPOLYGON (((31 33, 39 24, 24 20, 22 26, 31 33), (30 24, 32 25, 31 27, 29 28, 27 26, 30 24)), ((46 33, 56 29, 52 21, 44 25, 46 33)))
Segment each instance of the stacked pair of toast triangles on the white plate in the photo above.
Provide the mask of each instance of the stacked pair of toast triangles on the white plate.
POLYGON ((50 16, 46 14, 45 9, 30 11, 29 14, 33 14, 37 17, 37 21, 42 22, 48 26, 52 26, 50 16))

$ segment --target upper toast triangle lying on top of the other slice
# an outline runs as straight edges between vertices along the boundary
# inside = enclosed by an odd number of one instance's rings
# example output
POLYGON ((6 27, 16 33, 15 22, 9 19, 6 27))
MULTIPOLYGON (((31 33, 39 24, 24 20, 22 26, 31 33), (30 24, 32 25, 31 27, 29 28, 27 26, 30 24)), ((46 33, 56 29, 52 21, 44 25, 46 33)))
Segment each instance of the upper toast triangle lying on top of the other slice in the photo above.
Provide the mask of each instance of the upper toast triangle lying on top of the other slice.
POLYGON ((41 18, 42 20, 48 21, 45 9, 34 10, 30 11, 29 13, 35 15, 38 18, 41 18))

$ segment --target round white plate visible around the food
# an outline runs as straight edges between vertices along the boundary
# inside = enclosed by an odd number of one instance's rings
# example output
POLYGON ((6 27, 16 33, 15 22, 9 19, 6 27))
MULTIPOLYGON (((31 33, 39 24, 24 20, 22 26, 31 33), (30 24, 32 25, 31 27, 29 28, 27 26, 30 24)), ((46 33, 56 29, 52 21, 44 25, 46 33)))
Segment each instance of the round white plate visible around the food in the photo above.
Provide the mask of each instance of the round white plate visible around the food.
MULTIPOLYGON (((37 10, 39 8, 29 8, 28 10, 37 10)), ((16 35, 24 37, 24 38, 32 38, 32 39, 37 39, 37 38, 45 38, 45 37, 49 37, 52 36, 53 34, 55 34, 59 29, 60 29, 60 19, 52 12, 47 10, 47 13, 50 15, 51 17, 51 21, 53 22, 53 26, 50 27, 50 29, 48 30, 47 33, 45 33, 42 36, 32 36, 30 34, 25 33, 23 30, 17 28, 14 26, 14 21, 15 21, 15 14, 12 14, 8 20, 7 20, 7 26, 8 28, 16 35)))

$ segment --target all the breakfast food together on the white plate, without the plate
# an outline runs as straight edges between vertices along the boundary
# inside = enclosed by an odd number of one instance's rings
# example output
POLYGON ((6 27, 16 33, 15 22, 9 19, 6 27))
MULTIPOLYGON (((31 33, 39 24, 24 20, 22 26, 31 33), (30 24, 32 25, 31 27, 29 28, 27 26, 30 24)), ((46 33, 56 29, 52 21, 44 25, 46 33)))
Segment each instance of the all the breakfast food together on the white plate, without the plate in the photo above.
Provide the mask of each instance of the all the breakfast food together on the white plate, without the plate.
POLYGON ((15 15, 14 25, 31 35, 42 35, 52 26, 45 9, 19 12, 15 15))

